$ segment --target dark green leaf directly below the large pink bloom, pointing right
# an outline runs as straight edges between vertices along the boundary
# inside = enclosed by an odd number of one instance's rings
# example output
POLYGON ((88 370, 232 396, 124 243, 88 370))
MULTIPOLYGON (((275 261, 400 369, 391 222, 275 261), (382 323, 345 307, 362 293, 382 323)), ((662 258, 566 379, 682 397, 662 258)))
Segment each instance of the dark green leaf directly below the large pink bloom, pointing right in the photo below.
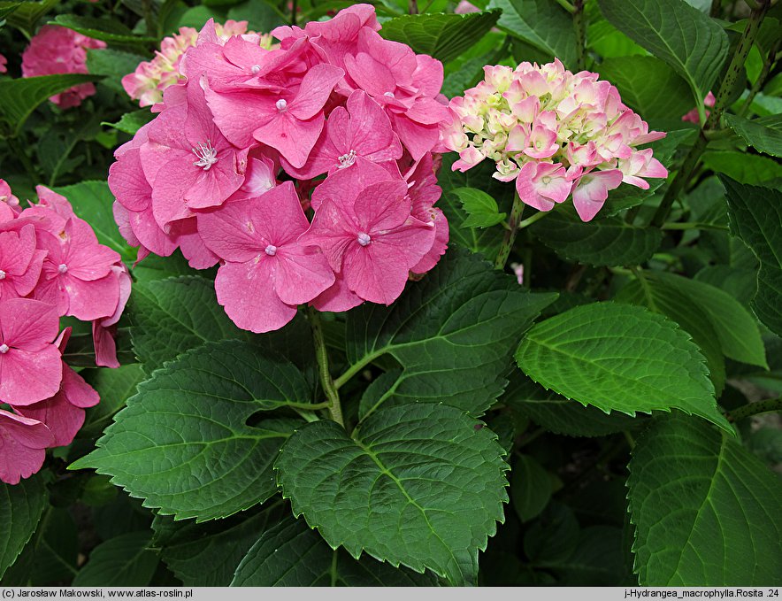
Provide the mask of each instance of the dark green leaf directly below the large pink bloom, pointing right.
POLYGON ((352 365, 389 354, 398 380, 362 413, 411 401, 448 403, 473 414, 505 387, 510 351, 556 295, 532 294, 464 250, 450 250, 423 281, 390 307, 364 304, 348 314, 352 365))

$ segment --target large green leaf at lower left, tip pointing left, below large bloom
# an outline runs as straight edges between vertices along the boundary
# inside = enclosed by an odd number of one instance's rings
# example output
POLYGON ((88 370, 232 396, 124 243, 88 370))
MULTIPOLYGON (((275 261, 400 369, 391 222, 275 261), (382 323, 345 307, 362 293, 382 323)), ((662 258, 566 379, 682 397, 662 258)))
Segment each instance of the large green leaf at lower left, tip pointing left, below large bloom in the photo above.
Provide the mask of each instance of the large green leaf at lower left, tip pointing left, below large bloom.
POLYGON ((261 420, 259 411, 307 403, 311 391, 287 360, 238 341, 209 343, 153 374, 128 399, 92 467, 162 515, 224 518, 271 497, 272 461, 297 420, 261 420))

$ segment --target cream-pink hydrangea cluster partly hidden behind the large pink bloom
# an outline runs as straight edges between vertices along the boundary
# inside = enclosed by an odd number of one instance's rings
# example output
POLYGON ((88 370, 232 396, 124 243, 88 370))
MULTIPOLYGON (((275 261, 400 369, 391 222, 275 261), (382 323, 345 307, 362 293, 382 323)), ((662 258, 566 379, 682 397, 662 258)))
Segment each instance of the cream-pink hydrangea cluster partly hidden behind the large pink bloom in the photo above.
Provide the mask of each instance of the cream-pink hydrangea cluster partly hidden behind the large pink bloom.
MULTIPOLYGON (((247 30, 247 21, 228 19, 225 25, 214 24, 215 34, 222 42, 232 35, 242 35, 249 42, 256 42, 261 48, 272 49, 271 34, 257 34, 247 30)), ((163 38, 155 58, 140 63, 133 73, 122 78, 122 87, 127 95, 139 101, 139 106, 150 106, 163 102, 163 90, 184 79, 180 73, 180 62, 188 48, 196 45, 198 32, 193 27, 180 27, 180 32, 163 38)))

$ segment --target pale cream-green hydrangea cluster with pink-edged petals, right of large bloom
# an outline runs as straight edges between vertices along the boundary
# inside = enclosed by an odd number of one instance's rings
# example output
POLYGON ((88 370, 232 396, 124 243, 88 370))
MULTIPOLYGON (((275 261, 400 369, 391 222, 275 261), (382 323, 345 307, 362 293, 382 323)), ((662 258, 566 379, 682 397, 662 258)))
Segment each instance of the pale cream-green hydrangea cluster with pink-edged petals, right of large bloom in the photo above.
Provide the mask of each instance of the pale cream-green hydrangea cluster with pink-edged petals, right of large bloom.
POLYGON ((453 120, 442 136, 459 152, 455 171, 490 158, 494 177, 516 181, 525 204, 550 211, 572 195, 584 221, 623 181, 648 189, 643 178, 668 175, 652 150, 636 148, 665 134, 650 132, 597 73, 574 74, 558 60, 484 72, 484 81, 450 101, 453 120))

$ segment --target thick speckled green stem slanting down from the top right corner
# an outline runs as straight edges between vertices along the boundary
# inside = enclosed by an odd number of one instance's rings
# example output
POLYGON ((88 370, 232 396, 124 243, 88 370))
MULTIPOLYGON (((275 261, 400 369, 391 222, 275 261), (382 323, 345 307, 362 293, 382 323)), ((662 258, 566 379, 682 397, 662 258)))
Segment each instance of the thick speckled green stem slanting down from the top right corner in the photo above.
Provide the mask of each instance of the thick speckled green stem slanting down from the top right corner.
MULTIPOLYGON (((701 154, 706 148, 708 140, 704 135, 705 130, 717 129, 719 127, 719 120, 722 118, 722 114, 725 107, 730 100, 730 96, 737 79, 740 77, 742 68, 747 60, 747 54, 752 48, 752 44, 755 42, 755 36, 757 35, 760 24, 763 22, 766 12, 769 9, 770 0, 761 0, 758 6, 750 13, 747 20, 747 27, 744 28, 744 33, 741 34, 739 46, 733 53, 731 64, 728 66, 727 73, 725 73, 724 79, 720 84, 717 96, 715 97, 714 106, 709 114, 709 119, 706 119, 705 124, 699 132, 698 139, 695 140, 693 148, 690 149, 687 154, 684 163, 679 168, 678 173, 671 181, 671 185, 665 191, 665 196, 657 207, 654 217, 652 217, 651 225, 660 227, 665 223, 668 214, 671 212, 671 206, 678 199, 678 196, 684 191, 686 184, 690 181, 690 176, 694 172, 695 167, 698 165, 698 161, 701 159, 701 154)), ((699 112, 703 111, 703 99, 698 99, 699 112)), ((701 123, 702 123, 701 119, 701 123)))

